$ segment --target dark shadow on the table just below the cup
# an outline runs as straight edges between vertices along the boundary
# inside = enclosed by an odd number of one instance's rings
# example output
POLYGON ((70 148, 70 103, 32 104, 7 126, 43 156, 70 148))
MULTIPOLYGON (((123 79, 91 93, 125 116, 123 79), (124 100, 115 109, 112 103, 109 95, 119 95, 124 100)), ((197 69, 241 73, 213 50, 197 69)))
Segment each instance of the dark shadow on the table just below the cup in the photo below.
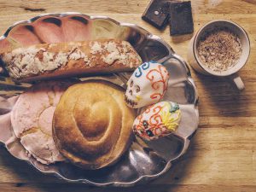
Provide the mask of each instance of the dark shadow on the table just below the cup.
POLYGON ((252 115, 247 96, 249 87, 239 91, 230 79, 216 78, 201 73, 195 73, 195 76, 197 79, 195 83, 199 90, 200 113, 204 116, 238 117, 252 115))

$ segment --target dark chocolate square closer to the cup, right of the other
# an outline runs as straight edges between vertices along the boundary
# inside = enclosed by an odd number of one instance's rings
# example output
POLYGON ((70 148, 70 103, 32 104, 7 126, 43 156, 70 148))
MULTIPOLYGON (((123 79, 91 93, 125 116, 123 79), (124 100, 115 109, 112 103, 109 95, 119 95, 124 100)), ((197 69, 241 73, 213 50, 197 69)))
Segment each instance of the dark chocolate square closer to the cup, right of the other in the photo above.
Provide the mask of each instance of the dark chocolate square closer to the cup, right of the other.
POLYGON ((191 2, 169 3, 171 35, 194 32, 191 2))

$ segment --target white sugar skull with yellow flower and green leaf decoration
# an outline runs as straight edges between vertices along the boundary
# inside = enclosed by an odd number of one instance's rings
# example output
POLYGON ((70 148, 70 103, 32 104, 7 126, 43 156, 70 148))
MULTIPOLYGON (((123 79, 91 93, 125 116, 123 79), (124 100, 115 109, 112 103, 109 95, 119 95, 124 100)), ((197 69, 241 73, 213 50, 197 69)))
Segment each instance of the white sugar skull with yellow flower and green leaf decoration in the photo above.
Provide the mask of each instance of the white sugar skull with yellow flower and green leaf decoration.
POLYGON ((177 130, 181 110, 176 102, 158 102, 134 120, 134 133, 148 141, 170 135, 177 130))

